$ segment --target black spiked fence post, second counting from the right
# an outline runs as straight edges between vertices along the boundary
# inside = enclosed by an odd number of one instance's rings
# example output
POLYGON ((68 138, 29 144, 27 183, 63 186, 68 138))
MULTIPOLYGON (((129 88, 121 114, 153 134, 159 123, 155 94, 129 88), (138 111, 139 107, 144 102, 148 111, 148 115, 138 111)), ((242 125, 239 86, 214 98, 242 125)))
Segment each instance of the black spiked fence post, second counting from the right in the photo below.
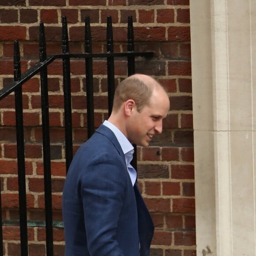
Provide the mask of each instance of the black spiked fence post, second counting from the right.
MULTIPOLYGON (((107 17, 107 52, 113 53, 113 28, 112 18, 107 17)), ((108 72, 108 103, 109 103, 109 116, 112 112, 113 98, 115 93, 115 71, 114 71, 114 57, 107 57, 107 72, 108 72)))

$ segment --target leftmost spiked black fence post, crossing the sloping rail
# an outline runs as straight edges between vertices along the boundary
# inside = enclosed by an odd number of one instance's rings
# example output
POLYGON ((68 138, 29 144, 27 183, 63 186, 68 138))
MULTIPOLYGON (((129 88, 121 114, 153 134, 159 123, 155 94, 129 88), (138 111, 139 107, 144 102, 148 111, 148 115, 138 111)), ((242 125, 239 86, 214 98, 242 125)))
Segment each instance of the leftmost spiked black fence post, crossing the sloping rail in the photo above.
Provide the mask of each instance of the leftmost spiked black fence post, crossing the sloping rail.
MULTIPOLYGON (((19 42, 14 42, 14 81, 21 79, 19 42)), ((22 88, 15 90, 15 115, 17 136, 17 162, 19 183, 19 223, 20 223, 20 250, 21 256, 28 255, 27 216, 26 216, 26 173, 23 129, 23 102, 22 88)))

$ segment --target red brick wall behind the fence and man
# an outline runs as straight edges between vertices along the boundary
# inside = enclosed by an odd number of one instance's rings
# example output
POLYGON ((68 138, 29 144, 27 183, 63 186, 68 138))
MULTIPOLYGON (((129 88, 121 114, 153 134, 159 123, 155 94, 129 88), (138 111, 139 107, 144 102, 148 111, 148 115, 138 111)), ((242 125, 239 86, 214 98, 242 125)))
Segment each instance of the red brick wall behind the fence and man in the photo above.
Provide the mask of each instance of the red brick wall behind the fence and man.
MULTIPOLYGON (((0 88, 13 74, 13 41, 19 40, 22 71, 38 61, 38 26, 45 23, 47 53, 61 52, 61 16, 68 19, 70 52, 84 51, 84 17, 90 16, 93 51, 104 52, 106 17, 112 16, 114 51, 126 51, 128 15, 133 16, 136 50, 154 51, 136 60, 136 72, 153 75, 168 91, 170 111, 163 133, 150 147, 138 147, 138 182, 155 223, 152 256, 195 256, 195 197, 192 133, 189 0, 1 0, 0 88), (85 5, 85 3, 87 5, 85 5)), ((74 150, 86 135, 84 61, 72 61, 74 150)), ((95 125, 107 117, 105 62, 94 62, 95 125)), ((127 76, 116 61, 116 83, 127 76)), ((28 218, 44 219, 40 84, 37 75, 23 86, 28 218)), ((54 220, 61 221, 65 178, 62 67, 49 66, 54 220)), ((18 218, 14 95, 0 101, 0 173, 4 219, 18 218)), ((43 227, 28 230, 29 253, 45 255, 43 227)), ((18 256, 19 228, 4 226, 5 255, 18 256)), ((54 228, 54 255, 63 255, 63 230, 54 228)))

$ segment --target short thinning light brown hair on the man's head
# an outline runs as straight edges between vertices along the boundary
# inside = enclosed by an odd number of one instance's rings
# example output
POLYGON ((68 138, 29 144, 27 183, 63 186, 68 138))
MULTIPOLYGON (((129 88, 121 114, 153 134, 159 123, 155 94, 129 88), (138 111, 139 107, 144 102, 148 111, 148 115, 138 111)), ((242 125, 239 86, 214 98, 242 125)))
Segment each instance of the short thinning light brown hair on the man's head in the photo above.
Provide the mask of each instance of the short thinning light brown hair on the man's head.
POLYGON ((131 75, 124 79, 115 91, 113 101, 113 111, 117 112, 123 102, 128 99, 134 100, 137 111, 140 112, 144 106, 149 105, 153 90, 159 83, 150 76, 148 79, 142 79, 145 75, 131 75))

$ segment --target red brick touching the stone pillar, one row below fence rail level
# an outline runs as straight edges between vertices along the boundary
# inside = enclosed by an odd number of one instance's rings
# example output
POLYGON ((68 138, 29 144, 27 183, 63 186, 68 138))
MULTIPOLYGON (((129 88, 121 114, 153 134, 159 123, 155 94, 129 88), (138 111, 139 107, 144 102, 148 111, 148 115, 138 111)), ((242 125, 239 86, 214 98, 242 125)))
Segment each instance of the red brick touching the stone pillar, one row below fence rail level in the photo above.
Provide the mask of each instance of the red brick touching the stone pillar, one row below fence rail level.
POLYGON ((191 75, 191 62, 183 60, 168 61, 169 75, 191 75))

